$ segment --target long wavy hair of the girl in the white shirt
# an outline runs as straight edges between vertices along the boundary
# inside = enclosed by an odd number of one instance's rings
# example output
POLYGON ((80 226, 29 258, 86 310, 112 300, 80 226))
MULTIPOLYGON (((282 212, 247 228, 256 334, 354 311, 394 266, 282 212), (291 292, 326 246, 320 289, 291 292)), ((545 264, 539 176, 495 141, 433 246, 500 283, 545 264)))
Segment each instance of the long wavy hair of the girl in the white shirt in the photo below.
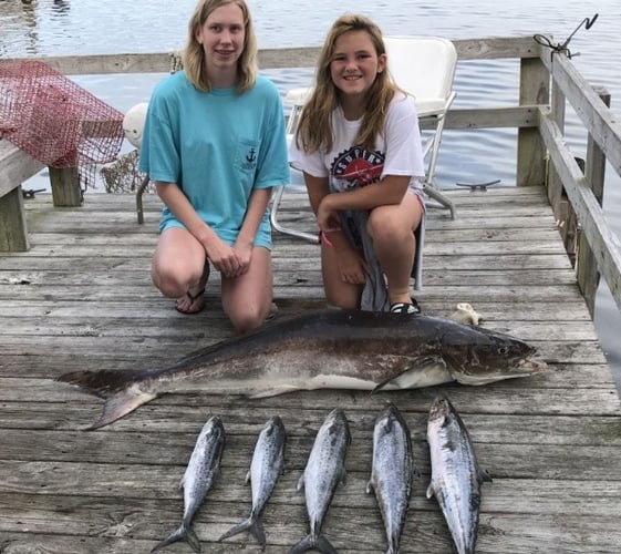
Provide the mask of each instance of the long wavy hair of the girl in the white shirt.
MULTIPOLYGON (((341 16, 330 29, 317 64, 314 90, 306 103, 300 123, 296 132, 296 144, 307 153, 323 148, 332 150, 332 112, 339 104, 339 89, 330 75, 330 63, 339 37, 350 31, 365 31, 380 57, 386 53, 382 31, 369 18, 345 13, 341 16)), ((394 83, 387 66, 377 73, 375 81, 366 93, 366 106, 362 124, 356 136, 356 144, 369 150, 375 148, 375 140, 383 134, 384 121, 389 104, 400 89, 394 83), (371 107, 371 109, 370 109, 371 107)))

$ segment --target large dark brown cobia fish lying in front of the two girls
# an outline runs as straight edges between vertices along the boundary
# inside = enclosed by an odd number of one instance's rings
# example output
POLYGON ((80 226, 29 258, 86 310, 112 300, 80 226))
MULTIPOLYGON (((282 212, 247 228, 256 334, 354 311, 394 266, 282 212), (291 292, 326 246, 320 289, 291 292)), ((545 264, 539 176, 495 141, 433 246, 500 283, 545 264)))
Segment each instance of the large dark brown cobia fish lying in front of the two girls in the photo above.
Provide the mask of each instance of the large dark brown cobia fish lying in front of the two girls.
POLYGON ((325 309, 267 324, 164 369, 75 371, 59 380, 107 399, 92 429, 166 392, 270 397, 294 390, 484 384, 546 368, 519 339, 451 319, 325 309))

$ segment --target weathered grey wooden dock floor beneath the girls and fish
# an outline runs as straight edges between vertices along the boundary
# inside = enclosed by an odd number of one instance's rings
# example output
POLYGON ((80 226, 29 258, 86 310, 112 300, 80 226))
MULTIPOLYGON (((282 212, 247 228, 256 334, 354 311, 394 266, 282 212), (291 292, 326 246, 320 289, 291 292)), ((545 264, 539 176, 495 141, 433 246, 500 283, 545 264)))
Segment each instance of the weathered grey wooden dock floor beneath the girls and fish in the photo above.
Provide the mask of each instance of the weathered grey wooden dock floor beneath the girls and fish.
MULTIPOLYGON (((87 194, 76 208, 25 201, 31 249, 0 255, 0 553, 141 553, 183 512, 179 480, 209 416, 222 418, 222 473, 195 529, 204 552, 259 552, 248 534, 215 540, 250 513, 244 483, 257 434, 279 413, 287 468, 263 513, 267 552, 307 533, 296 490, 328 412, 341 407, 353 442, 346 484, 324 531, 342 553, 385 552, 375 499, 365 494, 373 420, 390 399, 410 424, 415 462, 403 552, 451 553, 434 499, 425 442, 435 394, 448 393, 494 482, 483 488, 478 553, 620 552, 621 409, 541 187, 447 193, 452 220, 432 209, 424 257, 428 315, 470 302, 485 326, 537 346, 550 370, 482 388, 458 384, 386 392, 296 392, 265 400, 169 394, 100 431, 84 428, 101 400, 59 375, 154 368, 232 335, 209 285, 208 309, 183 316, 149 280, 159 203, 145 197, 136 223, 130 195, 87 194)), ((298 198, 296 198, 298 199, 298 198)), ((281 217, 312 227, 289 195, 281 217)), ((298 202, 303 206, 303 201, 298 202)), ((308 213, 307 213, 308 214, 308 213)), ((323 305, 318 247, 276 234, 276 317, 323 305)), ((190 552, 175 544, 168 552, 190 552)))

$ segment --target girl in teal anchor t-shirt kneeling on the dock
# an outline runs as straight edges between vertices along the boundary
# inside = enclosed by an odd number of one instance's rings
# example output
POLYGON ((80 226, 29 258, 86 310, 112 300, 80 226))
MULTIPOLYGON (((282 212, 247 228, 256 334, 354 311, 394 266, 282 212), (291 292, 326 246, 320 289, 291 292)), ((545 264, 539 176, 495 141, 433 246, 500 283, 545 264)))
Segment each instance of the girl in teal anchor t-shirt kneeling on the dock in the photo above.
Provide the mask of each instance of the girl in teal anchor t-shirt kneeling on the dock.
POLYGON ((245 332, 271 307, 268 203, 289 183, 282 103, 257 74, 245 0, 198 1, 184 68, 156 86, 141 144, 139 168, 165 205, 152 277, 195 314, 218 270, 222 308, 245 332))

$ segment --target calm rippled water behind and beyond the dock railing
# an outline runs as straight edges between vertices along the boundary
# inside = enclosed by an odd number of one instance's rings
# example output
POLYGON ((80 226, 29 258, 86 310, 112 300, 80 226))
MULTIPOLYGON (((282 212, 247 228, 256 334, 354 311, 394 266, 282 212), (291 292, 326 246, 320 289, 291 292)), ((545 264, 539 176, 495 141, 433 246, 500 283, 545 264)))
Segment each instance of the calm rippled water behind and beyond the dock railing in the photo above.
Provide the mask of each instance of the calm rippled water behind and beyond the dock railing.
MULTIPOLYGON (((344 11, 364 13, 386 34, 438 34, 453 39, 552 34, 562 42, 584 18, 599 13, 590 30, 582 28, 570 43, 580 52, 573 62, 593 84, 612 95, 612 110, 620 113, 621 0, 248 0, 260 48, 321 44, 332 21, 344 11)), ((0 0, 0 58, 24 55, 103 54, 174 51, 183 47, 195 0, 0 0)), ((306 69, 273 71, 269 75, 281 91, 304 85, 312 79, 306 69)), ((514 61, 462 62, 455 79, 456 106, 516 103, 518 68, 514 61)), ((80 76, 76 81, 122 112, 148 100, 164 75, 80 76)), ((568 144, 584 157, 584 135, 568 110, 568 144)), ((131 150, 127 145, 125 151, 131 150)), ((456 182, 499 178, 510 184, 515 173, 515 131, 484 130, 444 133, 438 163, 442 187, 456 182)), ((32 186, 46 186, 45 176, 32 186)), ((604 213, 621 236, 621 179, 608 168, 604 213)), ((621 315, 606 287, 597 299, 596 327, 621 382, 621 315)))

